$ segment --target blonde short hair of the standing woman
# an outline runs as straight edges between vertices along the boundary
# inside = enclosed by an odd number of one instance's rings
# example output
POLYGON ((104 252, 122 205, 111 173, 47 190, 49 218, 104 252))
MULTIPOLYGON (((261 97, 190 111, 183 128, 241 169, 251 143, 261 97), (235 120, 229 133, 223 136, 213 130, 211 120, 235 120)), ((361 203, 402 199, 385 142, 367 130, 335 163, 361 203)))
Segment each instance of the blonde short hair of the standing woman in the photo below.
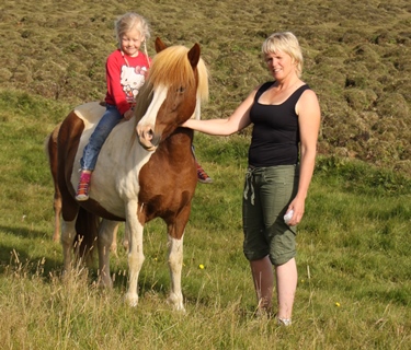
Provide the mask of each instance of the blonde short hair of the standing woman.
POLYGON ((267 55, 276 54, 277 51, 289 55, 293 59, 293 63, 296 63, 297 75, 301 77, 304 58, 298 39, 293 33, 273 33, 264 40, 261 50, 264 60, 267 55))

